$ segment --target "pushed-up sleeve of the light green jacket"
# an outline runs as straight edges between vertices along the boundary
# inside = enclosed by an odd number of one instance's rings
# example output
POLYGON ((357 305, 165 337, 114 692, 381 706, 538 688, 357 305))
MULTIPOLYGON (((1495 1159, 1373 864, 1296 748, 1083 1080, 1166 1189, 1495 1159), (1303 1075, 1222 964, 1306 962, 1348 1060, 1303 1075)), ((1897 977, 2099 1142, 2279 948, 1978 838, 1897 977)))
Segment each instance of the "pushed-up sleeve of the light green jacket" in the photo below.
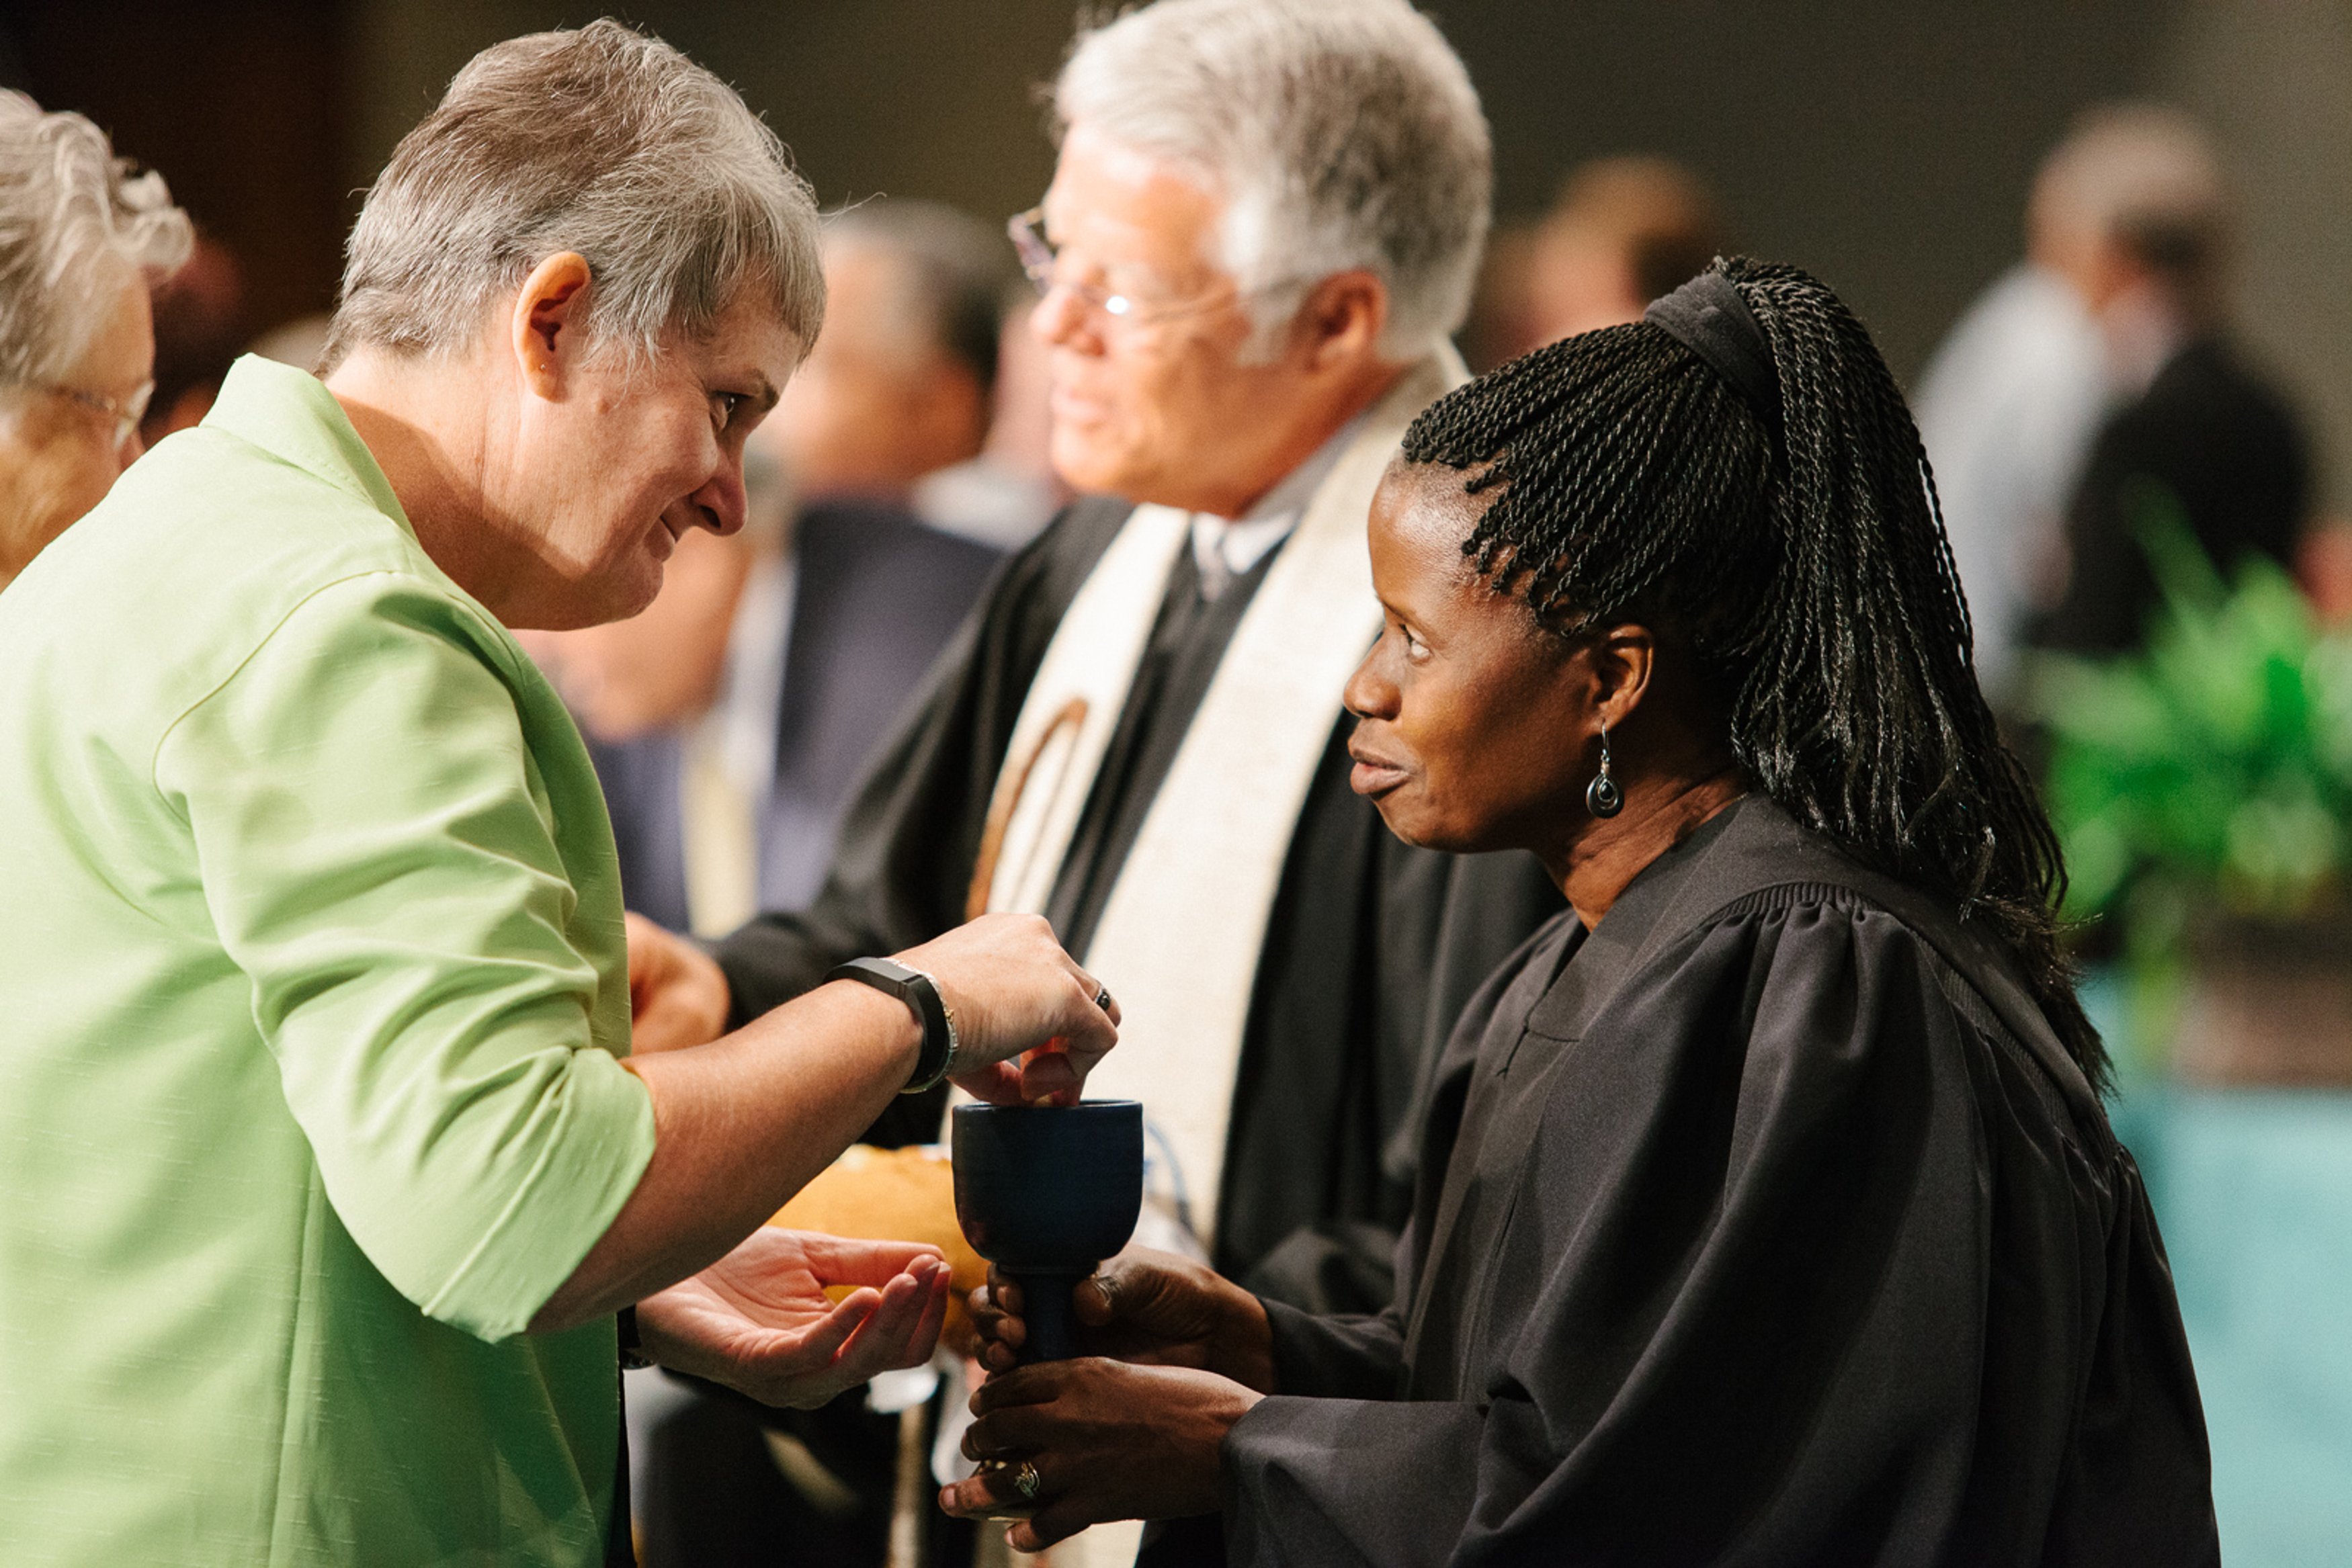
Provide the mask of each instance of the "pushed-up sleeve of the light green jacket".
POLYGON ((466 616, 400 574, 310 595, 167 731, 155 783, 336 1218, 499 1340, 612 1225, 654 1119, 593 1041, 548 790, 466 616))

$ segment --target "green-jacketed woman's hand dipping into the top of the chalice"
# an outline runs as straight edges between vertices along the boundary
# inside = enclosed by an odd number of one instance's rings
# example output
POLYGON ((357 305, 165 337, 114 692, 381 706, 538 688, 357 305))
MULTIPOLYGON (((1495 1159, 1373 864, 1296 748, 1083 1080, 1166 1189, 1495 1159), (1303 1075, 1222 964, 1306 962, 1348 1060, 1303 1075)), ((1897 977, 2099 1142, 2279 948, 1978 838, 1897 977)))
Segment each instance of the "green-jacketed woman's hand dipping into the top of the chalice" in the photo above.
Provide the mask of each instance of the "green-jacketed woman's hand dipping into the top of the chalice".
POLYGON ((955 1084, 976 1100, 1077 1105, 1120 1039, 1120 1004, 1094 1004, 1103 987, 1035 914, 983 914, 896 959, 938 983, 969 1063, 955 1084))

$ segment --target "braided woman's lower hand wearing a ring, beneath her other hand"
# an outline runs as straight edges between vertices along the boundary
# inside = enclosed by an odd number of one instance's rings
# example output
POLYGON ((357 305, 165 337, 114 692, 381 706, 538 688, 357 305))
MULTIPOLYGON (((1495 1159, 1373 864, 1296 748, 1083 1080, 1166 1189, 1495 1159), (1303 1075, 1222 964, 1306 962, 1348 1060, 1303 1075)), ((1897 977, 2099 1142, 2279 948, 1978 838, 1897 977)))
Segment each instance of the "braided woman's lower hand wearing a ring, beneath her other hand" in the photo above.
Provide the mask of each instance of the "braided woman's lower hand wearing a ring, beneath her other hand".
POLYGON ((1183 1519, 1218 1507, 1218 1448, 1261 1394, 1176 1366, 1047 1361, 990 1378, 964 1455, 983 1469, 938 1493, 964 1519, 1028 1512, 1007 1540, 1040 1552, 1105 1519, 1183 1519), (1037 1497, 1014 1479, 1037 1469, 1037 1497), (1035 1509, 1035 1512, 1030 1512, 1035 1509))

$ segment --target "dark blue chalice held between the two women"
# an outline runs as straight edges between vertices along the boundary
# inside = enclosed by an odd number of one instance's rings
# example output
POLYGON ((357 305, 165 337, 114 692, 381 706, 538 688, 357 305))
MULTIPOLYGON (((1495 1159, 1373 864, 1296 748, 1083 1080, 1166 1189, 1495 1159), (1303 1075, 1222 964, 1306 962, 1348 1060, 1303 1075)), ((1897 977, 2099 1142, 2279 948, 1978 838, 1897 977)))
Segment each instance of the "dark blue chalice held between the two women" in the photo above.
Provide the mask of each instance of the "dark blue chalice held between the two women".
POLYGON ((1136 1234, 1143 1208, 1143 1107, 957 1105, 955 1218, 964 1239, 1021 1286, 1021 1361, 1063 1361, 1070 1288, 1136 1234))

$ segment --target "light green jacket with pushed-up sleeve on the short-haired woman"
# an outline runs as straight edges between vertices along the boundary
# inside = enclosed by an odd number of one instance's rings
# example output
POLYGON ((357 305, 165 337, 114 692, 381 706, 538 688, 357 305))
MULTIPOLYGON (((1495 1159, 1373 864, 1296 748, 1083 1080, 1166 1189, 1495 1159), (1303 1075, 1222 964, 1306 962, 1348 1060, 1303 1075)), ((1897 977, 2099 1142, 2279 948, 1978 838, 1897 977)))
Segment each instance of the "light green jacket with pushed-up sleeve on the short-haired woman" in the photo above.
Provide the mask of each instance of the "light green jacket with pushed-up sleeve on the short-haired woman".
POLYGON ((0 1561, 602 1561, 626 1051, 579 731, 242 360, 0 592, 0 1561))

